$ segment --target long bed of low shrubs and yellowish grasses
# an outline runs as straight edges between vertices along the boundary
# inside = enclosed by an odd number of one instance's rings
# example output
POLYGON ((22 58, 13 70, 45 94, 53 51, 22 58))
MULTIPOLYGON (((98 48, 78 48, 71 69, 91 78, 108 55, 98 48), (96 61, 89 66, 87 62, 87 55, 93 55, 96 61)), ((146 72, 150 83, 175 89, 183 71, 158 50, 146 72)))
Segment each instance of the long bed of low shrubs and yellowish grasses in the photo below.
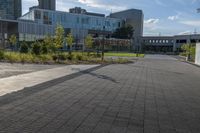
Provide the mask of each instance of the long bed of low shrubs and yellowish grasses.
MULTIPOLYGON (((118 53, 106 53, 107 55, 119 55, 118 53)), ((125 53, 121 53, 124 55, 125 53)), ((134 57, 135 54, 128 54, 127 57, 134 57)), ((141 56, 141 55, 140 55, 141 56)), ((135 56, 136 57, 136 56, 135 56)), ((116 58, 101 60, 101 54, 87 52, 58 52, 36 55, 31 52, 20 53, 10 51, 0 51, 0 61, 10 63, 36 63, 36 64, 123 64, 131 63, 128 58, 116 58)))

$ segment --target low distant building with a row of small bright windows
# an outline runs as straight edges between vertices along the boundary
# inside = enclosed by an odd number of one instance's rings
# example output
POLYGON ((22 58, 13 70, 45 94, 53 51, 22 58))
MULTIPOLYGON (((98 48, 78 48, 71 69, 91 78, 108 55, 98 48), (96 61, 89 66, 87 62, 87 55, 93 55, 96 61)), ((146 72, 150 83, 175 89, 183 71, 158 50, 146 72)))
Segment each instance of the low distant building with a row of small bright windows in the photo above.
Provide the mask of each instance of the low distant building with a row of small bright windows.
POLYGON ((175 35, 175 36, 145 36, 142 45, 146 52, 179 53, 183 44, 200 42, 200 34, 175 35))

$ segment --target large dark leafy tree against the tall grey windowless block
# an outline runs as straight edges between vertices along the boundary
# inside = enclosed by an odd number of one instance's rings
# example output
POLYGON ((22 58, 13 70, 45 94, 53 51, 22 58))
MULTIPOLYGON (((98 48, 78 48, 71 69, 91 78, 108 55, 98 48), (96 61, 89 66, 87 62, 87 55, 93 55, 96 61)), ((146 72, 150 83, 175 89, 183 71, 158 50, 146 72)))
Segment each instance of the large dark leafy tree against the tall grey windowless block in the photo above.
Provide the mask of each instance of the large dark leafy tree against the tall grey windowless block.
POLYGON ((134 29, 131 25, 123 26, 121 28, 116 29, 113 33, 112 37, 119 39, 131 39, 133 36, 134 29))

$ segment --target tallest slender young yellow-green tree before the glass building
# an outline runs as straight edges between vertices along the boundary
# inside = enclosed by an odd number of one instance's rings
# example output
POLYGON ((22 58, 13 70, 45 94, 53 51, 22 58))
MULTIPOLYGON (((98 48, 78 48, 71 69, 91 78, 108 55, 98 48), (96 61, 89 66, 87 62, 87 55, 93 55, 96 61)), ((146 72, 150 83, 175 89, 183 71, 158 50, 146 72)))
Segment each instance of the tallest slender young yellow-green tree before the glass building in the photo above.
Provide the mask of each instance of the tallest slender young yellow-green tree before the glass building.
POLYGON ((55 34, 55 47, 57 49, 61 49, 64 43, 64 28, 62 25, 57 25, 56 27, 56 34, 55 34))

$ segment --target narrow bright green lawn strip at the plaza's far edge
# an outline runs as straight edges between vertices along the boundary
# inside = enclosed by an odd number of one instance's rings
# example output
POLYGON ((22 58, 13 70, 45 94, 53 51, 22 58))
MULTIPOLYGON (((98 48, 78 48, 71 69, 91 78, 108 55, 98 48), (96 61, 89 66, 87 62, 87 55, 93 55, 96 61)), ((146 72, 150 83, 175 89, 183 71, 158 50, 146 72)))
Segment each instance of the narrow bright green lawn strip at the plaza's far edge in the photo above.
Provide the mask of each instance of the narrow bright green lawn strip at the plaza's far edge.
POLYGON ((144 57, 144 54, 135 54, 135 53, 105 53, 105 56, 117 56, 117 57, 144 57))

